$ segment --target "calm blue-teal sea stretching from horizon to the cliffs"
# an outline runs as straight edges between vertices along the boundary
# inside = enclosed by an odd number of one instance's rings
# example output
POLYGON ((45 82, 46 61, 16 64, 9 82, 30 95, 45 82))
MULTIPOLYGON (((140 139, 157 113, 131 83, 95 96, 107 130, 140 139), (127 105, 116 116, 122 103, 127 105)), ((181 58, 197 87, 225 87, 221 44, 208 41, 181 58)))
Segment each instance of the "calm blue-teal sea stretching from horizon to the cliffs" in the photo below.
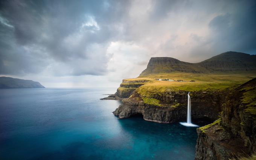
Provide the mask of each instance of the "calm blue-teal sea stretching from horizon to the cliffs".
POLYGON ((116 88, 0 89, 1 160, 193 160, 195 127, 117 119, 116 88))

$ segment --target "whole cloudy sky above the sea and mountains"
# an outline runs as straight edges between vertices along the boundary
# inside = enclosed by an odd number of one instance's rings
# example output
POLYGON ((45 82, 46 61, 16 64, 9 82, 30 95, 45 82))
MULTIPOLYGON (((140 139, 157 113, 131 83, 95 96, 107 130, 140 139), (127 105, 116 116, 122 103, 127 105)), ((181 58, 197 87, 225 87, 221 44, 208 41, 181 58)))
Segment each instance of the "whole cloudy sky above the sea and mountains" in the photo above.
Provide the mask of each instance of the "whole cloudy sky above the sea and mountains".
POLYGON ((256 54, 255 0, 0 0, 0 76, 114 87, 151 57, 256 54))

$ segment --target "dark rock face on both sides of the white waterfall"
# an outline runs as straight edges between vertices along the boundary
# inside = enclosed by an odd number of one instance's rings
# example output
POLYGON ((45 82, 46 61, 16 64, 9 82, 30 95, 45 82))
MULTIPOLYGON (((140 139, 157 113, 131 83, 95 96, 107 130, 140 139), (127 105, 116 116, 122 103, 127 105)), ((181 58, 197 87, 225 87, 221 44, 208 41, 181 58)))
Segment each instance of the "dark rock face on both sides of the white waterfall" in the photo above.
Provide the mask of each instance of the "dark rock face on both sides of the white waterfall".
MULTIPOLYGON (((171 123, 185 119, 187 115, 187 91, 165 91, 152 93, 148 99, 158 101, 158 104, 149 104, 143 101, 144 95, 137 90, 133 95, 122 101, 113 113, 119 118, 127 118, 133 115, 142 114, 148 121, 158 123, 171 123)), ((217 119, 221 111, 221 94, 213 94, 214 91, 190 92, 192 101, 191 116, 193 118, 209 117, 217 119)))

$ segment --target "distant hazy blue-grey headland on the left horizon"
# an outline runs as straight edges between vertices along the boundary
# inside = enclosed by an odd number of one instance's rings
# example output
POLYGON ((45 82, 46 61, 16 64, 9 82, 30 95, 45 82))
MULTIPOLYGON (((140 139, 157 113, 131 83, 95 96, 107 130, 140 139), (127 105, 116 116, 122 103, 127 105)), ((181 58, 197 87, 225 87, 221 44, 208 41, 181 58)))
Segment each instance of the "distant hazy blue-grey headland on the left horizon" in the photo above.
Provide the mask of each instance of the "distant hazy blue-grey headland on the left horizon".
POLYGON ((0 88, 45 88, 39 82, 11 77, 0 77, 0 88))

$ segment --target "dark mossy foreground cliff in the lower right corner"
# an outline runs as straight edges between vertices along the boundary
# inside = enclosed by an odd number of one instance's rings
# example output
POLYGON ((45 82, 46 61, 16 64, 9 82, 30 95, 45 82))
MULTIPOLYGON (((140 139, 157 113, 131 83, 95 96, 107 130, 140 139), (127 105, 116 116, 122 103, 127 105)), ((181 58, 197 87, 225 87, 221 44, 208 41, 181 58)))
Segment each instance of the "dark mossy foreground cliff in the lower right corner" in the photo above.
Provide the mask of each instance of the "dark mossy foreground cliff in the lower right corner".
POLYGON ((197 129, 195 160, 226 160, 256 152, 256 78, 226 91, 220 118, 197 129))

